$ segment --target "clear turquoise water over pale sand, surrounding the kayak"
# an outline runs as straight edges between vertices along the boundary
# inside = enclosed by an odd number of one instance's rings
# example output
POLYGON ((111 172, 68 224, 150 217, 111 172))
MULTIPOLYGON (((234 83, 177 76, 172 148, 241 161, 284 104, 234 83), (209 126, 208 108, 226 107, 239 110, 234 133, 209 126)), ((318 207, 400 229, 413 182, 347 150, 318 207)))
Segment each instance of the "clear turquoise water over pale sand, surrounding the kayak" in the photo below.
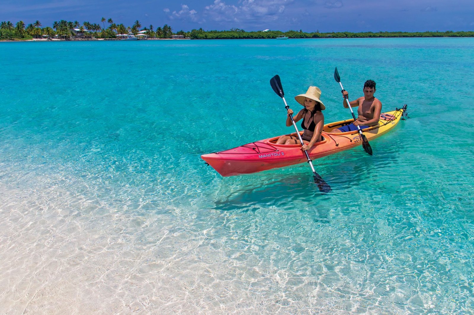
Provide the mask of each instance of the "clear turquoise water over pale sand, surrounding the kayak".
POLYGON ((0 43, 0 309, 467 314, 473 38, 0 43), (200 159, 326 122, 377 82, 409 119, 362 148, 222 178, 200 159))

